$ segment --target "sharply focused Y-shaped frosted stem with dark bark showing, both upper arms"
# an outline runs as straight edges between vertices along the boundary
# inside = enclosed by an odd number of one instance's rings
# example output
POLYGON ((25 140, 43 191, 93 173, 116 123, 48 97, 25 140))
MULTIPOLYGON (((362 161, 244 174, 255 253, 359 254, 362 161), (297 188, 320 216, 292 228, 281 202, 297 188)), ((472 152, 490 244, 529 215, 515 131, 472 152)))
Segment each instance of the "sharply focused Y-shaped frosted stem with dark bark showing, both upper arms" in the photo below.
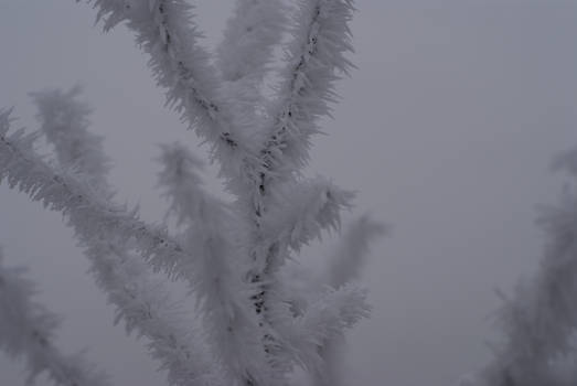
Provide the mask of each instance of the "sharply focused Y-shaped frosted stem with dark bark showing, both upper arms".
MULTIPOLYGON (((263 325, 263 340, 274 342, 274 326, 266 317, 266 297, 267 286, 274 280, 268 264, 278 260, 275 256, 279 250, 277 243, 264 242, 260 234, 259 217, 267 210, 264 204, 266 185, 268 178, 278 174, 279 170, 293 169, 289 165, 293 163, 291 157, 277 159, 277 156, 296 156, 295 149, 286 146, 296 138, 292 130, 297 127, 295 125, 304 125, 304 119, 328 112, 327 100, 333 98, 331 84, 336 78, 334 71, 346 68, 348 62, 342 52, 349 49, 346 22, 352 10, 351 3, 348 0, 301 3, 302 12, 299 25, 295 29, 291 50, 293 57, 290 58, 287 72, 288 81, 279 93, 274 128, 264 133, 269 139, 264 140, 264 148, 258 151, 242 138, 248 132, 244 127, 246 121, 231 114, 227 101, 223 101, 214 92, 220 85, 212 78, 204 51, 197 46, 199 34, 189 25, 188 9, 183 1, 128 3, 96 0, 94 4, 99 10, 99 17, 105 18, 105 29, 126 20, 128 26, 137 33, 137 42, 151 56, 150 64, 158 83, 169 90, 169 104, 173 104, 190 124, 196 124, 199 135, 213 144, 213 153, 221 161, 222 173, 229 179, 229 190, 238 194, 241 206, 248 204, 244 211, 246 225, 254 230, 250 236, 254 242, 249 242, 245 248, 247 258, 255 262, 247 269, 247 276, 257 288, 252 298, 256 313, 260 315, 258 323, 263 325), (321 112, 321 109, 327 111, 321 112), (231 125, 233 120, 234 126, 231 125), (290 124, 290 127, 285 127, 285 124, 290 124)), ((314 122, 310 122, 307 128, 308 131, 317 131, 314 122)), ((299 130, 304 132, 304 141, 308 141, 307 130, 299 130)), ((268 343, 265 350, 273 352, 271 346, 276 344, 268 343)))

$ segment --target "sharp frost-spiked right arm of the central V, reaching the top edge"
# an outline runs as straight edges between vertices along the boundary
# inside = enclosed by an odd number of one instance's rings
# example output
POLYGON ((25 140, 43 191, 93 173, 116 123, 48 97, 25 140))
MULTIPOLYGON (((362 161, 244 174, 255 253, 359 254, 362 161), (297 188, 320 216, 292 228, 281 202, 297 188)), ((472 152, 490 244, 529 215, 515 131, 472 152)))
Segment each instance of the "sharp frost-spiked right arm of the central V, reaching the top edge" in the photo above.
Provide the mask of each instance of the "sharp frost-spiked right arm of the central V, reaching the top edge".
POLYGON ((330 115, 329 103, 336 99, 334 81, 352 66, 344 54, 353 51, 353 10, 351 0, 299 2, 287 67, 269 111, 273 121, 267 122, 259 150, 260 193, 271 180, 284 180, 307 163, 310 138, 320 131, 317 120, 330 115))

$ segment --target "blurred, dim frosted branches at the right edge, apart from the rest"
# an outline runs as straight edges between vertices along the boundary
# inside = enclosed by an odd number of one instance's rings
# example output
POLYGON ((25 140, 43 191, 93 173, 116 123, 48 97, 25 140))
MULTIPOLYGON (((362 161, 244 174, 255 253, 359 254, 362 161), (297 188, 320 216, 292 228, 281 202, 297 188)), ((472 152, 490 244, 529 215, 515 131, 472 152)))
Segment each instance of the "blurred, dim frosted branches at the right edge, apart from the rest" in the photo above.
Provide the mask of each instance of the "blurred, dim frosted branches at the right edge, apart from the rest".
POLYGON ((503 342, 494 360, 462 386, 569 386, 577 379, 577 149, 560 154, 555 170, 568 183, 555 206, 543 206, 537 223, 546 236, 536 275, 513 297, 501 294, 498 317, 503 342))

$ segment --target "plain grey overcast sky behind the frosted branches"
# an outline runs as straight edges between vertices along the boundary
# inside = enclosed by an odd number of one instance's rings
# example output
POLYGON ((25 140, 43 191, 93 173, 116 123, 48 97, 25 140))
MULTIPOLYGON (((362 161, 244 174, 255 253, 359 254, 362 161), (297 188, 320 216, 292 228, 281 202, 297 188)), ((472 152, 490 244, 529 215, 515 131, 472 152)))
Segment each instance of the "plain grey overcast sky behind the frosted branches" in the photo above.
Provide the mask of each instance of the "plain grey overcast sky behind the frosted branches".
MULTIPOLYGON (((197 3, 213 46, 232 0, 197 3)), ((494 289, 536 267, 535 204, 555 202, 563 178, 551 158, 577 143, 577 2, 356 6, 359 69, 340 83, 310 168, 356 190, 355 211, 394 225, 366 269, 373 317, 349 334, 351 384, 452 385, 489 361, 494 289)), ((165 207, 153 187, 157 143, 204 150, 162 107, 132 36, 124 26, 103 34, 94 17, 74 1, 0 0, 0 106, 35 128, 26 93, 82 83, 119 197, 156 221, 165 207)), ((141 342, 111 326, 71 235, 58 214, 0 186, 0 244, 64 315, 62 346, 88 346, 116 385, 164 385, 141 342)), ((0 355, 0 385, 23 384, 22 366, 0 355)))

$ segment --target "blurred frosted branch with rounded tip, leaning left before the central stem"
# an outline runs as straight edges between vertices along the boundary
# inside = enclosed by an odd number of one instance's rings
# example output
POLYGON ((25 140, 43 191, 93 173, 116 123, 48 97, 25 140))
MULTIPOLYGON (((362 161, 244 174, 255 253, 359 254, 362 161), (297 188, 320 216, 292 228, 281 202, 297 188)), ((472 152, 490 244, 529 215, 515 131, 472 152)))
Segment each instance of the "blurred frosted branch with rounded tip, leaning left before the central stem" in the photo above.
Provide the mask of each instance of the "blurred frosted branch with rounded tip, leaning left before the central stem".
POLYGON ((254 289, 242 280, 239 272, 246 268, 234 257, 243 255, 243 247, 232 244, 235 217, 231 207, 203 189, 197 173, 202 162, 186 148, 162 146, 160 161, 159 184, 170 200, 170 213, 186 225, 183 243, 199 256, 190 280, 197 289, 214 357, 229 378, 267 384, 271 375, 267 375, 260 328, 249 302, 254 289))

